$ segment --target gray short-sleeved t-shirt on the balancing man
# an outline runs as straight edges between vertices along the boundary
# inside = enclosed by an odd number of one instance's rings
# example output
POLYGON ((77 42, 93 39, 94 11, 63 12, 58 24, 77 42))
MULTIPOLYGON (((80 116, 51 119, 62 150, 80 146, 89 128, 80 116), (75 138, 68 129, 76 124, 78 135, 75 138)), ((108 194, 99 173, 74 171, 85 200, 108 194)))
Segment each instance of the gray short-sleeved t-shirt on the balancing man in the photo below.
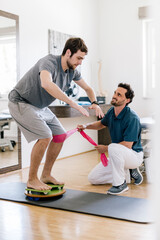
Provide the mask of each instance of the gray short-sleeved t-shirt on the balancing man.
POLYGON ((63 71, 61 55, 52 54, 40 59, 17 83, 9 93, 11 102, 26 102, 38 108, 49 106, 55 98, 41 87, 40 72, 47 70, 52 75, 52 81, 65 92, 72 80, 80 80, 81 74, 77 70, 63 71))

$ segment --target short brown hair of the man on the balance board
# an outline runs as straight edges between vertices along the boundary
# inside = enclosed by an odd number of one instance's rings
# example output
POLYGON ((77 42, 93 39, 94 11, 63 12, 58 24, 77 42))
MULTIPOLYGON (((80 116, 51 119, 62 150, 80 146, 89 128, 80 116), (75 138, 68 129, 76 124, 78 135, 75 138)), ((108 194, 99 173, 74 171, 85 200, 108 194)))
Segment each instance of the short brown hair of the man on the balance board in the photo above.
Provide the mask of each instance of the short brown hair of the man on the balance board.
POLYGON ((85 52, 86 54, 88 53, 88 48, 81 38, 69 38, 64 46, 62 52, 63 56, 65 55, 67 49, 71 51, 71 57, 78 50, 80 50, 81 52, 85 52))

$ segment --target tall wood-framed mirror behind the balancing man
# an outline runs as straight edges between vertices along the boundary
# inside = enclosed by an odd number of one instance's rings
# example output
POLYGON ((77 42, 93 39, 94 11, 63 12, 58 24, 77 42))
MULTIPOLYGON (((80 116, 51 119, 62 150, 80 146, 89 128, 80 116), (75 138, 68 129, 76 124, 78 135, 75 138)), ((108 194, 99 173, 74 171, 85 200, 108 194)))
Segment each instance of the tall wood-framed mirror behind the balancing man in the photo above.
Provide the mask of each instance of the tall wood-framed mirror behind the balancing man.
POLYGON ((19 79, 19 17, 0 10, 0 174, 21 168, 20 131, 8 109, 19 79))

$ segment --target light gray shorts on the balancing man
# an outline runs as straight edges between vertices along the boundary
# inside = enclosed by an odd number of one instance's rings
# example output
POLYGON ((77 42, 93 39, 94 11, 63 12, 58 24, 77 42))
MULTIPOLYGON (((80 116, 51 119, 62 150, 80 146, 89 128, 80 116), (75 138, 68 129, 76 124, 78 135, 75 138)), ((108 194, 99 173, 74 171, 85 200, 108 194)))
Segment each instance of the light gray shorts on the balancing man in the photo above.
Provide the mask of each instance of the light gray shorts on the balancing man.
POLYGON ((65 129, 49 108, 37 108, 27 103, 13 103, 8 107, 13 119, 28 142, 65 133, 65 129))

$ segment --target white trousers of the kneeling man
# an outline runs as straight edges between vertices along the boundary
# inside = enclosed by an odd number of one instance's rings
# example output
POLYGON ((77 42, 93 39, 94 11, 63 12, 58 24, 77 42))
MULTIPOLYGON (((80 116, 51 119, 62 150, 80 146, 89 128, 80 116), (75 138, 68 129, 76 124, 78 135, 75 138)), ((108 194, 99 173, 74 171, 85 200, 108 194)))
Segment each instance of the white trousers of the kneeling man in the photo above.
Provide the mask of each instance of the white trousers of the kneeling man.
POLYGON ((100 162, 88 175, 91 184, 112 183, 121 185, 124 180, 130 183, 129 169, 139 167, 143 162, 143 152, 136 152, 122 144, 111 143, 108 146, 109 163, 104 167, 100 162))

